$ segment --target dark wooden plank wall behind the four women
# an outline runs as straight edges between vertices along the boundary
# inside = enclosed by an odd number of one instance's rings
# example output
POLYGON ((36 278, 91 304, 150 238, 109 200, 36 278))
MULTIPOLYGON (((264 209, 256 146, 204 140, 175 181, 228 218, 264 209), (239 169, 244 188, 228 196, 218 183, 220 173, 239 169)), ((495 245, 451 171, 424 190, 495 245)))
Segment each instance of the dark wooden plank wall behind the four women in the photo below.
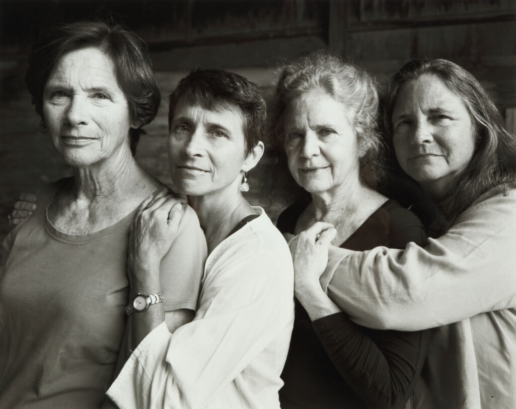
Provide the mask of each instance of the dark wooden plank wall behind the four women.
MULTIPOLYGON (((0 239, 21 192, 69 173, 23 80, 30 43, 55 24, 111 14, 147 41, 164 100, 137 160, 169 182, 166 96, 193 68, 221 68, 259 84, 266 100, 282 63, 321 48, 385 83, 410 57, 446 58, 471 71, 516 130, 515 0, 6 1, 0 0, 0 239)), ((272 219, 288 198, 267 195, 251 172, 249 200, 272 219)))

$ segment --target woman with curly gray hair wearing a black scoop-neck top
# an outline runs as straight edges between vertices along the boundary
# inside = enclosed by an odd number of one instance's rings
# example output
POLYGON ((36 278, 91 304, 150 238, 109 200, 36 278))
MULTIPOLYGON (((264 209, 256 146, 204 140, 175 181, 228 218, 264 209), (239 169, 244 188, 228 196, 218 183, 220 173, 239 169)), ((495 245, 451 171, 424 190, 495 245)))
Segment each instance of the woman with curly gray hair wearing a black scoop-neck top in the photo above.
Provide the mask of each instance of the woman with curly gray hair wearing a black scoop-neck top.
MULTIPOLYGON (((418 219, 376 190, 383 175, 377 116, 375 82, 352 64, 319 52, 284 68, 271 135, 311 201, 283 211, 281 232, 318 228, 321 244, 353 250, 424 243, 418 219)), ((372 331, 353 323, 320 285, 306 280, 309 264, 319 260, 291 250, 297 300, 281 406, 404 406, 425 360, 428 333, 372 331)))

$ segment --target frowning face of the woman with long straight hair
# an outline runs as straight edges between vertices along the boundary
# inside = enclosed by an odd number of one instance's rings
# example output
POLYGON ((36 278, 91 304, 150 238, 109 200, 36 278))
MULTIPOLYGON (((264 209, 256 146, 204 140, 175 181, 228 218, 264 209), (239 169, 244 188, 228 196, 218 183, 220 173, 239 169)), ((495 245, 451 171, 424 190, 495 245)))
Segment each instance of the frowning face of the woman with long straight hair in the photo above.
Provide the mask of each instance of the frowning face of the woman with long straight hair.
POLYGON ((466 106, 436 75, 404 84, 392 116, 393 143, 401 169, 434 197, 468 165, 475 130, 466 106))

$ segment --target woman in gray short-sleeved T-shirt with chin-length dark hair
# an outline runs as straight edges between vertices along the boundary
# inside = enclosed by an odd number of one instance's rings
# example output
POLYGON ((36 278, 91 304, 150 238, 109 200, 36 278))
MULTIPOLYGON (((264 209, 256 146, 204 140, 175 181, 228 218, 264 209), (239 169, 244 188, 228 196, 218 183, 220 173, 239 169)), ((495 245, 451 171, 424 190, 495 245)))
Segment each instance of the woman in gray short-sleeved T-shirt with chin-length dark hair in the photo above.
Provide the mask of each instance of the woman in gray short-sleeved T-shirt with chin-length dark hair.
MULTIPOLYGON (((48 32, 33 46, 26 81, 73 176, 44 186, 37 211, 4 241, 0 407, 98 408, 125 330, 131 222, 166 189, 133 156, 160 93, 143 41, 102 22, 48 32)), ((159 294, 142 301, 163 303, 171 331, 193 316, 206 255, 191 208, 178 228, 159 294)))

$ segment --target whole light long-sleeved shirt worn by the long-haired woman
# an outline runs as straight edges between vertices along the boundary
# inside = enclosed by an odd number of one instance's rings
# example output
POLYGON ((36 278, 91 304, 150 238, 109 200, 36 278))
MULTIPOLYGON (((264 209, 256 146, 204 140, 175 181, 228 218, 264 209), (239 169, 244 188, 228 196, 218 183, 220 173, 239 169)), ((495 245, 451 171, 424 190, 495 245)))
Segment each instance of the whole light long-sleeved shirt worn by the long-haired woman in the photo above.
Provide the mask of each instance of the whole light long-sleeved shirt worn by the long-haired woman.
POLYGON ((360 325, 434 330, 418 407, 516 407, 516 190, 496 188, 421 248, 331 248, 321 285, 360 325))

